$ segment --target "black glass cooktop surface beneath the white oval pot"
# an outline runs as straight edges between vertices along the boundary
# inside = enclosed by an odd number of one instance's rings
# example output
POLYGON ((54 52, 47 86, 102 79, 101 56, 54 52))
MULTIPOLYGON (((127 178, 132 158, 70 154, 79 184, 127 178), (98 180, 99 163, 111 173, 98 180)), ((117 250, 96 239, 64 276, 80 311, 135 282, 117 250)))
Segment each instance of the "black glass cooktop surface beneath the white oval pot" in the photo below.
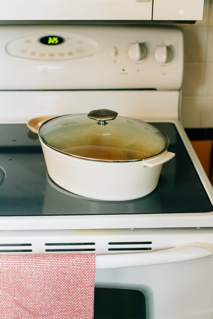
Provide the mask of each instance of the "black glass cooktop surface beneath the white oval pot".
POLYGON ((176 155, 163 165, 156 189, 130 201, 69 193, 48 176, 38 136, 25 124, 0 125, 0 216, 209 212, 209 197, 173 123, 152 123, 176 155))

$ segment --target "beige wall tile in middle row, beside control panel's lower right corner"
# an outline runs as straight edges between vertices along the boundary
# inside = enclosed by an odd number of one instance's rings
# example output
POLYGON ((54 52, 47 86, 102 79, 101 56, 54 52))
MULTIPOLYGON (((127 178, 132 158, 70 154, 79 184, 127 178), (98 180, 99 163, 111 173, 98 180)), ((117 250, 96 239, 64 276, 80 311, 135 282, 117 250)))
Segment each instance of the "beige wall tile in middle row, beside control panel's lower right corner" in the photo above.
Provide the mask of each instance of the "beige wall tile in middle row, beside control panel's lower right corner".
POLYGON ((204 67, 205 63, 184 63, 183 96, 201 96, 203 94, 204 67))

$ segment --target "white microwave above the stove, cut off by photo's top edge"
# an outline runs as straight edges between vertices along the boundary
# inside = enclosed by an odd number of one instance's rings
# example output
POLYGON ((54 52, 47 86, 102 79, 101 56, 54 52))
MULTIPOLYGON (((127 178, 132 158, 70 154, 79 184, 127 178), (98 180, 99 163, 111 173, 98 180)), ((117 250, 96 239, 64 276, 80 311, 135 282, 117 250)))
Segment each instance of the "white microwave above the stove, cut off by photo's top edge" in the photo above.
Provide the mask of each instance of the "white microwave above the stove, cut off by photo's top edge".
POLYGON ((202 20, 204 0, 7 0, 0 21, 202 20))

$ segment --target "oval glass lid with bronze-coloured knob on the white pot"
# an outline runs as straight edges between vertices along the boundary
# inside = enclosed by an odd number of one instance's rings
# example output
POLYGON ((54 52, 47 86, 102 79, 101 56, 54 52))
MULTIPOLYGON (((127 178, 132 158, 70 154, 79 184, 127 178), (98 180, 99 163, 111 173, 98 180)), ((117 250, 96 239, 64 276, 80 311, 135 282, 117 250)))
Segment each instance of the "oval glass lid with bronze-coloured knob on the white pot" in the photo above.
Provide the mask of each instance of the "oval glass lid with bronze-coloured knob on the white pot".
POLYGON ((43 123, 38 134, 42 142, 59 152, 98 161, 138 161, 168 148, 169 139, 162 131, 117 115, 101 109, 88 115, 58 116, 43 123))

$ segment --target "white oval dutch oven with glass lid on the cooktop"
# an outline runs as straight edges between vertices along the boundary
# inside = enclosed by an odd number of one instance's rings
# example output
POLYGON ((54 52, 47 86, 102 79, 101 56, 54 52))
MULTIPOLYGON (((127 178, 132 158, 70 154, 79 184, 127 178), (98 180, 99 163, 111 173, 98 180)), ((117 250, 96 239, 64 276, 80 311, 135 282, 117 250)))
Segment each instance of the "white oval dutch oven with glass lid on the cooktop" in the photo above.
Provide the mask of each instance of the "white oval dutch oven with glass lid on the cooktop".
POLYGON ((40 126, 48 174, 55 183, 81 196, 112 201, 143 197, 156 188, 163 163, 175 155, 167 151, 168 137, 147 123, 117 115, 94 110, 58 116, 40 126))

